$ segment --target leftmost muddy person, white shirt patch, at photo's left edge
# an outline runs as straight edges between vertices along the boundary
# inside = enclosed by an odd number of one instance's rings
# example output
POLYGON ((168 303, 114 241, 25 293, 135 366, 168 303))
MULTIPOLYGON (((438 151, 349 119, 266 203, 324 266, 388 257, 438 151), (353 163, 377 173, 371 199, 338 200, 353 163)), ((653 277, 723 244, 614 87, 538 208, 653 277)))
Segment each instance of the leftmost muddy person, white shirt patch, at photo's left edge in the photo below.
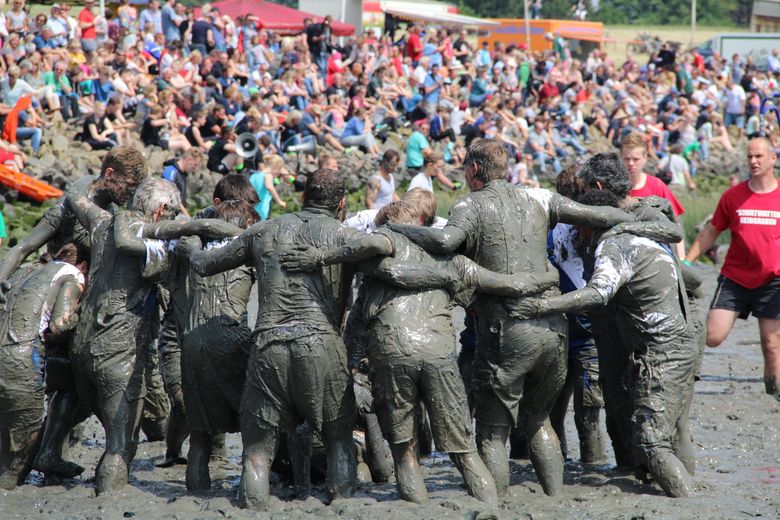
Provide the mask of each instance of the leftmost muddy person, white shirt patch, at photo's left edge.
POLYGON ((84 248, 65 244, 50 262, 14 279, 8 292, 0 313, 0 488, 23 484, 32 469, 43 425, 44 345, 67 344, 87 261, 84 248))

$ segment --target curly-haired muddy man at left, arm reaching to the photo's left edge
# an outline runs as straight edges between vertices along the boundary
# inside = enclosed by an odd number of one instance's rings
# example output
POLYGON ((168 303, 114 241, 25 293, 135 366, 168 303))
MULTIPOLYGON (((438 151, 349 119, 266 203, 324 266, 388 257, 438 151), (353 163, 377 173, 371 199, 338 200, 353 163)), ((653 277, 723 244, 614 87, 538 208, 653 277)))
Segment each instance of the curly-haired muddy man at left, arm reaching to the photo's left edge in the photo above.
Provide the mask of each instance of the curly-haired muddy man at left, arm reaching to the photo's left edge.
MULTIPOLYGON (((112 202, 124 205, 133 195, 138 184, 146 178, 146 159, 138 150, 118 146, 110 150, 100 167, 100 175, 95 178, 84 176, 76 181, 72 190, 88 193, 89 198, 102 208, 112 202)), ((67 200, 44 213, 43 218, 29 235, 23 238, 0 263, 0 300, 3 299, 6 280, 16 272, 22 262, 44 245, 50 251, 57 251, 67 243, 77 243, 89 251, 88 231, 81 225, 67 200)), ((71 418, 78 413, 79 400, 75 388, 60 388, 52 397, 51 410, 56 414, 47 414, 46 427, 34 469, 48 475, 71 478, 82 469, 62 458, 62 445, 71 428, 71 418)))

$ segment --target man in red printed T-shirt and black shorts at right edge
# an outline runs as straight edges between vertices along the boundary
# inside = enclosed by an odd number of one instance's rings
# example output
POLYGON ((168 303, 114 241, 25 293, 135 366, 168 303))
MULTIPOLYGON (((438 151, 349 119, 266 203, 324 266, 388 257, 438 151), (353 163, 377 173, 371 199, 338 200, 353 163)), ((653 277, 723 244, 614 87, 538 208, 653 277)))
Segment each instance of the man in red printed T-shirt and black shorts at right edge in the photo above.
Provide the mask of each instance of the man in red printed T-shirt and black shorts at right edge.
POLYGON ((780 183, 765 137, 748 144, 750 179, 727 190, 691 246, 692 262, 729 229, 731 245, 707 315, 707 346, 717 347, 737 318, 758 318, 766 393, 780 401, 780 183))

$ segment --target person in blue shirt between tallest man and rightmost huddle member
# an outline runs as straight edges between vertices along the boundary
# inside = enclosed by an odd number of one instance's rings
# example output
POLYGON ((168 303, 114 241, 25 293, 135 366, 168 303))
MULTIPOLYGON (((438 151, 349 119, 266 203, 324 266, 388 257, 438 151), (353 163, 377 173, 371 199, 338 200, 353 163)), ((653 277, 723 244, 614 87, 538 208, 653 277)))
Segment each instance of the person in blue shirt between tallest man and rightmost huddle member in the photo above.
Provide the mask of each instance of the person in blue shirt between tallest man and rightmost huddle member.
MULTIPOLYGON (((583 192, 583 183, 577 177, 578 164, 564 168, 555 181, 559 195, 571 200, 583 192)), ((568 293, 585 286, 585 245, 580 240, 577 226, 558 224, 550 231, 550 257, 560 273, 560 289, 568 293)), ((574 398, 574 425, 580 440, 580 461, 599 464, 604 459, 604 445, 599 427, 599 416, 604 398, 599 386, 599 359, 591 333, 588 316, 567 315, 569 321, 569 367, 566 382, 550 414, 555 433, 561 441, 561 452, 567 456, 564 419, 569 401, 574 398)))

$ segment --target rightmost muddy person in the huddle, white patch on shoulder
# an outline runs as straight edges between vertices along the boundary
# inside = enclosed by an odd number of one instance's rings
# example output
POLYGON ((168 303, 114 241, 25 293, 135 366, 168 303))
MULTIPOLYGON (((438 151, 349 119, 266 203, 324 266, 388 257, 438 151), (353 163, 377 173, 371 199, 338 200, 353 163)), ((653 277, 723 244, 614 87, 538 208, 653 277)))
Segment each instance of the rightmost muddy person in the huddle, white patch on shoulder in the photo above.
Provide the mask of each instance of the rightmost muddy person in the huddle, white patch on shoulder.
MULTIPOLYGON (((617 197, 593 190, 580 199, 585 204, 617 207, 617 197)), ((687 413, 699 356, 696 327, 679 262, 669 248, 630 233, 580 227, 584 240, 595 248, 593 274, 576 291, 519 303, 518 315, 582 313, 615 305, 615 323, 631 352, 630 399, 633 405, 632 442, 656 483, 670 497, 694 491, 687 468, 675 455, 673 441, 680 416, 687 413)))

